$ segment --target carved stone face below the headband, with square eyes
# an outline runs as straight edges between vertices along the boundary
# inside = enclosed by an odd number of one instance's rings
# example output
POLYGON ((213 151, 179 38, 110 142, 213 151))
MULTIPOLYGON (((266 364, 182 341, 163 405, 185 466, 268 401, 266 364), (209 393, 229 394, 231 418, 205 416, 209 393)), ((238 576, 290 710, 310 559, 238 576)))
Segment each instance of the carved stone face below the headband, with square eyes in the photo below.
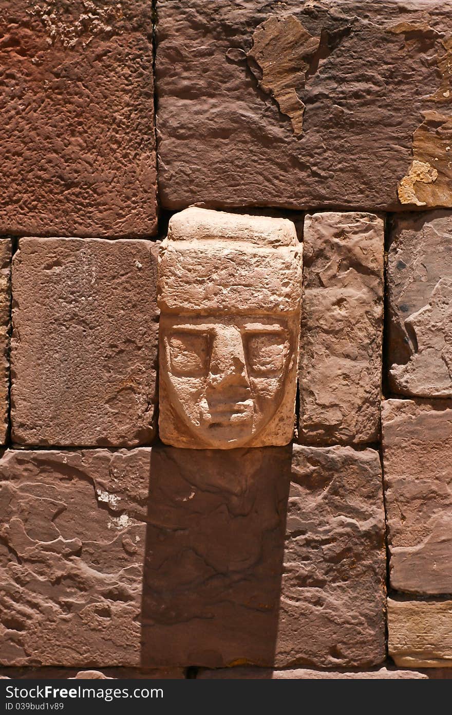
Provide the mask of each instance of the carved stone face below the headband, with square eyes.
POLYGON ((294 368, 292 323, 279 315, 162 317, 165 392, 199 444, 241 447, 268 425, 294 368))

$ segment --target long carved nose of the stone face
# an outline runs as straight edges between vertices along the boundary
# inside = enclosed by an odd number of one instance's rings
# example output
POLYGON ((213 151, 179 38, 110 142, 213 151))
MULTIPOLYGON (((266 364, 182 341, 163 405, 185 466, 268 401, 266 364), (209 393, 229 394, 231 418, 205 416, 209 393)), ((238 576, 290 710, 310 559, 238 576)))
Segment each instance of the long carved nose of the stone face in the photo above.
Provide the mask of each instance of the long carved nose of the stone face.
POLYGON ((241 333, 235 327, 223 327, 214 336, 210 364, 211 385, 248 384, 241 333))

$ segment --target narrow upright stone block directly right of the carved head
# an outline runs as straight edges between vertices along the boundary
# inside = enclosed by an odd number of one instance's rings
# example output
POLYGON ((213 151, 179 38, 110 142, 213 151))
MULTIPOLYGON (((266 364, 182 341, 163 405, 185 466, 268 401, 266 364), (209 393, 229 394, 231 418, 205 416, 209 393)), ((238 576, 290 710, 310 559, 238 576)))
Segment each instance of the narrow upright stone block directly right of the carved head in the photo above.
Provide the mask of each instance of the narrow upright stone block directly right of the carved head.
POLYGON ((299 440, 376 442, 380 431, 383 220, 308 215, 303 232, 299 440))

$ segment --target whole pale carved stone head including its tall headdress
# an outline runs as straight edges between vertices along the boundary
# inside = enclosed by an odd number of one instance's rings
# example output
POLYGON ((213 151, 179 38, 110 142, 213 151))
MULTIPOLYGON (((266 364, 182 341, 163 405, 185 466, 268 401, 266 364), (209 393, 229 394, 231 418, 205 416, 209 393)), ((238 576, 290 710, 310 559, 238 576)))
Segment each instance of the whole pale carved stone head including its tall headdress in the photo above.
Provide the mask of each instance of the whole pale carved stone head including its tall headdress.
POLYGON ((290 442, 301 310, 293 223, 185 209, 161 244, 157 295, 161 440, 290 442))

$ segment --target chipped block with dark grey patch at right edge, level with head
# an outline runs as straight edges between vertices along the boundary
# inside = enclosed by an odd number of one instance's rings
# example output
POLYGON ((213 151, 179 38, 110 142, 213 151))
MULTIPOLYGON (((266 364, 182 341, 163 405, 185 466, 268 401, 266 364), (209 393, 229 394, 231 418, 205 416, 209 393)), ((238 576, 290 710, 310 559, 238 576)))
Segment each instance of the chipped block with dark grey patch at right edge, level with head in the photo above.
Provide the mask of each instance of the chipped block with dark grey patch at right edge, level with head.
POLYGON ((452 397, 451 212, 396 217, 388 291, 391 390, 452 397))

